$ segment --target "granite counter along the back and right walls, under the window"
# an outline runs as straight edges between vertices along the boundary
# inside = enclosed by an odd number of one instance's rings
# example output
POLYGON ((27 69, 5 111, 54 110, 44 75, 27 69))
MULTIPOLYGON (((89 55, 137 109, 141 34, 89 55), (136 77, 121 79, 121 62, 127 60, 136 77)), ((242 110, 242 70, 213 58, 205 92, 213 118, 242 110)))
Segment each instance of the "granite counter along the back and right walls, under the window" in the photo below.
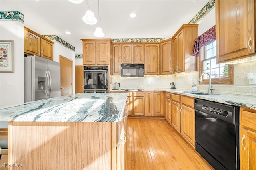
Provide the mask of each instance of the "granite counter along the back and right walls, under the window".
MULTIPOLYGON (((125 90, 110 90, 110 92, 128 92, 125 90)), ((131 90, 136 91, 136 90, 131 90)), ((236 95, 236 94, 228 94, 228 93, 212 93, 209 95, 197 95, 197 94, 190 94, 190 93, 184 93, 184 91, 189 90, 180 90, 180 89, 141 89, 140 91, 166 91, 170 93, 176 93, 179 95, 185 95, 188 97, 194 97, 198 99, 205 99, 208 101, 215 101, 218 103, 224 103, 227 105, 234 105, 239 107, 246 107, 250 109, 256 109, 256 96, 253 95, 236 95)))

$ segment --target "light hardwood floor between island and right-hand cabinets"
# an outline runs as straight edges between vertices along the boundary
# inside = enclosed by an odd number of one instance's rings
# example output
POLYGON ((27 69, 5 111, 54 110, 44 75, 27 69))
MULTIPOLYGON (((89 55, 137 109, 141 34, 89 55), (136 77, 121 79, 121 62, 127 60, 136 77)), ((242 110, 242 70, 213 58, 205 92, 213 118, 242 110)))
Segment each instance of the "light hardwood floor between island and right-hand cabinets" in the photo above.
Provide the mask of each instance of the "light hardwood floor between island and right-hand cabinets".
POLYGON ((128 118, 127 170, 213 170, 165 119, 128 118))

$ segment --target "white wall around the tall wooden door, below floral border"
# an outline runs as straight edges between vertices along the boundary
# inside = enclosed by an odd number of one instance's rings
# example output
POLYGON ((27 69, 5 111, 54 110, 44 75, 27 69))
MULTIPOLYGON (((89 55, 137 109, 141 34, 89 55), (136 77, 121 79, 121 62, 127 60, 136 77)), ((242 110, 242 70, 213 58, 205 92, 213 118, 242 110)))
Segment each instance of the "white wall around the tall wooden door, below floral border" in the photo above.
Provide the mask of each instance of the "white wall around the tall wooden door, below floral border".
POLYGON ((76 60, 75 60, 75 52, 68 49, 64 45, 55 42, 53 45, 53 61, 60 62, 60 55, 63 57, 66 57, 73 61, 73 80, 72 80, 72 94, 75 94, 75 66, 76 66, 76 60))

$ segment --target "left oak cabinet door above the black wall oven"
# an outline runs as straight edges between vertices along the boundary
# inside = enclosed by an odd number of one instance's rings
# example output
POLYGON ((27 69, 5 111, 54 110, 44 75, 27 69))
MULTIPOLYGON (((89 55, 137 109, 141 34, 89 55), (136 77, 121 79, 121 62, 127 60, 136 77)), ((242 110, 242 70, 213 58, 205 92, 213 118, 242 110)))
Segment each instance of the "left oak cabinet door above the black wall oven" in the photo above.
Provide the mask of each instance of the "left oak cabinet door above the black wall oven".
POLYGON ((95 65, 96 61, 96 43, 94 41, 83 42, 83 64, 95 65))

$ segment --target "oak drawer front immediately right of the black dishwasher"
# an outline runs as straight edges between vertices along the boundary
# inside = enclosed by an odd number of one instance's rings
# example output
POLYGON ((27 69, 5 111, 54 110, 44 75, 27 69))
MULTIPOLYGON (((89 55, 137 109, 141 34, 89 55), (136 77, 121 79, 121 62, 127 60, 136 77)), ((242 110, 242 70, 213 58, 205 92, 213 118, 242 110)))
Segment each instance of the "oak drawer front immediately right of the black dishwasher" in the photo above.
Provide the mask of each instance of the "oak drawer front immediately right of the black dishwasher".
POLYGON ((256 113, 241 111, 241 124, 252 130, 256 130, 256 113))

